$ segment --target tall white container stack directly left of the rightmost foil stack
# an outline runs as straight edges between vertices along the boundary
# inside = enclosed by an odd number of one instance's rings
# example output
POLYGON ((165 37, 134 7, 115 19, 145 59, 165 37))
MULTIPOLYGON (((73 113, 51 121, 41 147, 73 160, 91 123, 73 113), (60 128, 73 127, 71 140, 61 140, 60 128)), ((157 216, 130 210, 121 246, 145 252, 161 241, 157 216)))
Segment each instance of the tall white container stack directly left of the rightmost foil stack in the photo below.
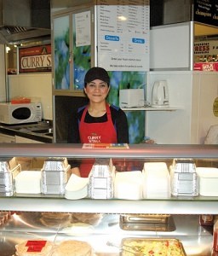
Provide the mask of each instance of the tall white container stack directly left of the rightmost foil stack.
POLYGON ((143 187, 144 198, 170 197, 170 177, 166 163, 144 163, 142 174, 145 180, 143 187))

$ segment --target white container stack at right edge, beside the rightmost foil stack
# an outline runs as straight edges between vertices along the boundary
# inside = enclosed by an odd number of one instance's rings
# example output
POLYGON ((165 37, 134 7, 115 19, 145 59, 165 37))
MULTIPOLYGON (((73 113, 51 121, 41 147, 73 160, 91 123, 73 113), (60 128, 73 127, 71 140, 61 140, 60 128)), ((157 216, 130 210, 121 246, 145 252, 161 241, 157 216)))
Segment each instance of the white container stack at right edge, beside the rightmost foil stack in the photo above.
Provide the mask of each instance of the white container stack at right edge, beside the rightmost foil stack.
POLYGON ((199 195, 218 196, 218 168, 197 167, 199 177, 199 195))

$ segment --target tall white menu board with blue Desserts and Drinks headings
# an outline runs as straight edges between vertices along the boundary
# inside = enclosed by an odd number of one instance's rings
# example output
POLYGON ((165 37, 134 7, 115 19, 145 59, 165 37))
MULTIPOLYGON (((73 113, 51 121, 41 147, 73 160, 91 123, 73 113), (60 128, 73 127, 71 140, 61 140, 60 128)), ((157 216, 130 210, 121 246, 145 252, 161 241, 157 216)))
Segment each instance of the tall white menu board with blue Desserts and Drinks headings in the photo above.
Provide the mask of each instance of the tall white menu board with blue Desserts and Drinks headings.
POLYGON ((149 30, 149 0, 99 0, 98 65, 108 71, 148 71, 149 30))

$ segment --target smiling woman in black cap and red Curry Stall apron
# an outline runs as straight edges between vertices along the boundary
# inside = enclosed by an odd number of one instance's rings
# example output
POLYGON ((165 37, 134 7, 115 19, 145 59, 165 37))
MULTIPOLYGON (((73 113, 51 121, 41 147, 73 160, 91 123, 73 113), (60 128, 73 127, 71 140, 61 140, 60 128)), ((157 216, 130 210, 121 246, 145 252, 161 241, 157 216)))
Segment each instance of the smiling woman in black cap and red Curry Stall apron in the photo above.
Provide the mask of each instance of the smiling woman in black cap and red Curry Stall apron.
MULTIPOLYGON (((68 143, 129 143, 129 129, 122 109, 109 105, 106 96, 110 90, 110 78, 102 67, 92 67, 84 78, 84 93, 88 105, 78 108, 69 124, 68 143)), ((87 177, 78 168, 73 172, 87 177)))

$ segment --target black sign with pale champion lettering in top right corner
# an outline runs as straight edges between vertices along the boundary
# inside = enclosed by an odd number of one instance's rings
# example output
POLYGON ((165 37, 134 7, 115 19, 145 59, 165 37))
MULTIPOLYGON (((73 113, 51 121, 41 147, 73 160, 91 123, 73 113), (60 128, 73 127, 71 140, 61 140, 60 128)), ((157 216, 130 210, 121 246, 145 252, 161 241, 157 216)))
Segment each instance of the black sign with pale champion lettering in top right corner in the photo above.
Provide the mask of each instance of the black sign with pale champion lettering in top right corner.
POLYGON ((194 21, 218 26, 217 0, 194 0, 194 21))

